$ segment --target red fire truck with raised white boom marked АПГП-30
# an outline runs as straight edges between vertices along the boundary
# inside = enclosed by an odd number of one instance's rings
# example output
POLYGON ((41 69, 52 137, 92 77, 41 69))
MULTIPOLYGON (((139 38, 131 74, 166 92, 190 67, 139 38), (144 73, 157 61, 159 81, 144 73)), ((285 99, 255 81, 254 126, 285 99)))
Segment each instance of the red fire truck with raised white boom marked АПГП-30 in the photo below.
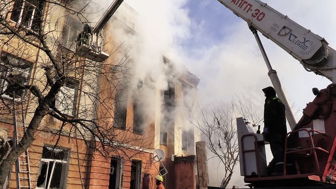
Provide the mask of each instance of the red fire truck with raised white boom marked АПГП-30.
POLYGON ((336 188, 336 51, 328 42, 260 0, 218 0, 248 23, 269 68, 269 76, 286 106, 291 131, 286 135, 282 175, 271 176, 262 134, 237 118, 240 173, 251 188, 336 188), (315 99, 296 123, 276 71, 272 69, 257 31, 275 42, 307 71, 332 81, 325 89, 313 88, 315 99))

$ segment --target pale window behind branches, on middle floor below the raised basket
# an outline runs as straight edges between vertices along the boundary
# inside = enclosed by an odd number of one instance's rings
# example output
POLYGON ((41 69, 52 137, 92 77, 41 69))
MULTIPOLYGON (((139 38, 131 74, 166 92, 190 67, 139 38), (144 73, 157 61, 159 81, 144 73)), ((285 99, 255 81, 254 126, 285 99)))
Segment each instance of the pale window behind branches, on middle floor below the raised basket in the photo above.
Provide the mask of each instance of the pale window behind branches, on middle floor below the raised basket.
POLYGON ((63 114, 75 115, 78 85, 77 81, 68 79, 57 93, 55 105, 63 114))

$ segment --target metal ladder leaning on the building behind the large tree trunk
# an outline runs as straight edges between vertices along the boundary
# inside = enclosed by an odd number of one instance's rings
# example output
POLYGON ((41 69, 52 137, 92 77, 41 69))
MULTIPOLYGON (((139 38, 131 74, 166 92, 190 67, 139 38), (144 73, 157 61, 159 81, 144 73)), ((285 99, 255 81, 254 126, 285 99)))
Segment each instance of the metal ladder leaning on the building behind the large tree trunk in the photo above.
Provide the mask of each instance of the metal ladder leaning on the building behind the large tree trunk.
MULTIPOLYGON (((13 122, 14 122, 14 137, 16 145, 19 145, 21 139, 26 132, 26 124, 23 113, 23 99, 21 98, 21 107, 22 107, 22 119, 20 120, 21 124, 17 123, 17 112, 15 106, 15 95, 13 98, 13 122)), ((20 118, 19 118, 20 119, 20 118)), ((29 155, 28 150, 25 150, 15 162, 15 173, 16 173, 16 183, 17 189, 31 189, 30 184, 30 167, 29 167, 29 155)))

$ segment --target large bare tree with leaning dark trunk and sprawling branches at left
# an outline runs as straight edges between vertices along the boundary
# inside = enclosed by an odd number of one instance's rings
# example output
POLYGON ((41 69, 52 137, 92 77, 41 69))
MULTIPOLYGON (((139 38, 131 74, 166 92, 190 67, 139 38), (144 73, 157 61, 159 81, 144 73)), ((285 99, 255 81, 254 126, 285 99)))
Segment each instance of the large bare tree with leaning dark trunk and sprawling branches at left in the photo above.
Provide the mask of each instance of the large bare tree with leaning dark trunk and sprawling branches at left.
MULTIPOLYGON (((116 126, 121 123, 116 119, 124 119, 115 115, 116 107, 123 104, 120 97, 131 77, 128 57, 115 55, 119 58, 103 63, 84 59, 79 56, 83 53, 76 50, 76 36, 75 39, 69 36, 74 32, 70 26, 83 28, 84 23, 90 23, 87 15, 94 12, 87 9, 89 3, 80 0, 0 3, 0 118, 13 124, 16 114, 18 125, 24 119, 27 123, 18 145, 16 141, 14 145, 1 142, 0 186, 39 130, 55 134, 55 147, 61 136, 76 137, 84 140, 90 153, 98 151, 103 156, 111 152, 129 156, 134 154, 134 150, 127 152, 129 145, 147 148, 153 139, 146 134, 134 135, 125 126, 116 126), (19 115, 24 115, 24 119, 19 115), (122 127, 124 130, 119 129, 122 127)), ((117 49, 106 50, 112 55, 117 49)))

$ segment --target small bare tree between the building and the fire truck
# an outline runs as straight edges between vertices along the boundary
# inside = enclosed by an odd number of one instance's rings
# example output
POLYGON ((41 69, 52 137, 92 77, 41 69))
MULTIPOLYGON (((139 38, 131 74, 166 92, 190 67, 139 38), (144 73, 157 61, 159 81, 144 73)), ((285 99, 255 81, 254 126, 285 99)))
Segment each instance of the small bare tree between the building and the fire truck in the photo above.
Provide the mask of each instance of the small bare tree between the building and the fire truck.
POLYGON ((201 131, 201 138, 206 141, 206 146, 212 153, 210 158, 218 158, 219 164, 224 166, 222 188, 229 184, 239 157, 236 118, 245 117, 253 126, 258 126, 263 121, 258 106, 253 107, 252 102, 236 95, 226 105, 201 108, 200 118, 192 121, 201 131))

